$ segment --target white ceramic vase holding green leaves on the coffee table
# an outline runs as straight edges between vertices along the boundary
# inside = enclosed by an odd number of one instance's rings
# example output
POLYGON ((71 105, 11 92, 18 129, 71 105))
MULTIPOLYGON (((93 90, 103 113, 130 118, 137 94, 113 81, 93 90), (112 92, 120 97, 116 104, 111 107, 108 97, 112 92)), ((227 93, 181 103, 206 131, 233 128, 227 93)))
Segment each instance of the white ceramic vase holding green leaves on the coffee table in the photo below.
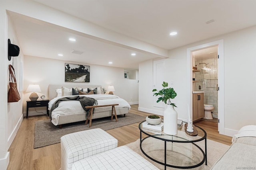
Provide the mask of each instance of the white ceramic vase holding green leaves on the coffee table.
POLYGON ((167 104, 164 110, 164 133, 167 135, 177 135, 178 125, 177 125, 178 113, 174 109, 173 105, 167 104))

